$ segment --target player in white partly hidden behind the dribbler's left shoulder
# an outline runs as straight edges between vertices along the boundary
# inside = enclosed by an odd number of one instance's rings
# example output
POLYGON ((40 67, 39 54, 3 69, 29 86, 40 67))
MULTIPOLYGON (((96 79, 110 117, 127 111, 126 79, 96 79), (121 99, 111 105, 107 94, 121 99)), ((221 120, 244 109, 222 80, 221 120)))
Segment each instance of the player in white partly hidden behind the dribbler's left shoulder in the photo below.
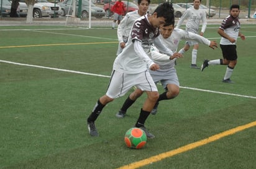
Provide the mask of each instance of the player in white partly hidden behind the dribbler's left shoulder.
POLYGON ((119 41, 117 54, 121 53, 122 49, 126 46, 129 37, 130 29, 134 25, 134 21, 147 13, 149 9, 150 0, 138 0, 139 9, 136 11, 128 12, 124 19, 117 27, 117 37, 119 41))

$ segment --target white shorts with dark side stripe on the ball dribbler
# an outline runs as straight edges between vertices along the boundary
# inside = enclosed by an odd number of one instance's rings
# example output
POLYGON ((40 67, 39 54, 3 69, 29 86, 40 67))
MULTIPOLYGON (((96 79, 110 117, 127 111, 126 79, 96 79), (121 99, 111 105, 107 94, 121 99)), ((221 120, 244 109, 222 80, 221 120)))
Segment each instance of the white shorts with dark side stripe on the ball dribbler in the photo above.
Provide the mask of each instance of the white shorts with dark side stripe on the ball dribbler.
POLYGON ((122 72, 112 71, 106 95, 110 98, 121 97, 134 86, 143 91, 158 91, 149 71, 139 74, 124 74, 122 72))

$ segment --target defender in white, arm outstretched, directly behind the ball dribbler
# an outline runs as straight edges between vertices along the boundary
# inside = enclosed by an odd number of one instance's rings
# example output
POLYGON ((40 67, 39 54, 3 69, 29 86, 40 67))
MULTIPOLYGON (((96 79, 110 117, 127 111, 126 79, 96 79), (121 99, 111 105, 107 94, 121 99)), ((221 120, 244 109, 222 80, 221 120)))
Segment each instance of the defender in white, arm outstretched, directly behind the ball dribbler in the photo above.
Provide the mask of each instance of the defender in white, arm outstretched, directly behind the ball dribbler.
MULTIPOLYGON (((175 53, 178 49, 180 40, 195 40, 199 43, 203 43, 204 45, 208 45, 210 48, 217 48, 216 41, 209 41, 196 33, 186 32, 185 30, 174 28, 174 20, 173 22, 167 23, 163 25, 163 27, 160 27, 159 37, 163 41, 163 44, 167 46, 167 48, 171 49, 173 53, 175 53)), ((153 61, 160 66, 160 69, 157 71, 149 71, 150 75, 152 76, 155 84, 157 84, 157 82, 161 82, 163 89, 165 89, 165 92, 160 94, 157 103, 151 111, 152 115, 155 115, 157 113, 158 103, 161 100, 169 100, 178 96, 180 92, 180 84, 175 69, 176 58, 160 53, 155 45, 151 46, 150 54, 153 61)), ((140 97, 140 95, 142 95, 142 93, 143 91, 140 89, 135 89, 134 92, 130 93, 129 97, 124 102, 124 105, 122 105, 121 110, 117 112, 116 117, 124 118, 127 109, 135 102, 137 98, 140 97)))

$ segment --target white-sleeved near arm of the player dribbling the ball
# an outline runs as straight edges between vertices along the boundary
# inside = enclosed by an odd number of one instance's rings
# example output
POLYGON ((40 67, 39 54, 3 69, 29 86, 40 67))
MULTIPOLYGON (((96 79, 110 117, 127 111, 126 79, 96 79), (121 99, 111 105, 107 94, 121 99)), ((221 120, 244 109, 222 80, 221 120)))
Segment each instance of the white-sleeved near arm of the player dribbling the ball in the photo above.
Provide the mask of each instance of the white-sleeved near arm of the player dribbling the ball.
POLYGON ((141 41, 137 39, 134 39, 132 41, 133 41, 135 53, 140 57, 140 59, 146 62, 149 69, 152 71, 159 69, 158 64, 154 63, 152 59, 150 59, 149 56, 143 50, 141 41))

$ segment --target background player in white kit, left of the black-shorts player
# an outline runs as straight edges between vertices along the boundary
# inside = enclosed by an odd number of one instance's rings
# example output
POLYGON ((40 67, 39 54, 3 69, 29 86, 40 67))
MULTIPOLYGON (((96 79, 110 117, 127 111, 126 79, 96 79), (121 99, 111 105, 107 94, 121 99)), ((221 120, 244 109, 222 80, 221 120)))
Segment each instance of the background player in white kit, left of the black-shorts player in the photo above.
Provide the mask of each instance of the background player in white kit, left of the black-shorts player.
MULTIPOLYGON (((202 21, 202 28, 199 35, 203 36, 204 31, 206 30, 206 13, 203 9, 200 9, 201 0, 194 0, 193 7, 186 10, 186 12, 181 16, 176 28, 180 28, 180 25, 184 22, 185 19, 188 21, 186 22, 186 30, 188 32, 198 33, 200 20, 202 21)), ((196 65, 196 57, 198 54, 199 45, 196 41, 186 41, 185 46, 179 51, 179 53, 185 53, 185 51, 190 49, 190 46, 193 46, 192 50, 192 59, 191 59, 191 68, 200 69, 196 65)))

